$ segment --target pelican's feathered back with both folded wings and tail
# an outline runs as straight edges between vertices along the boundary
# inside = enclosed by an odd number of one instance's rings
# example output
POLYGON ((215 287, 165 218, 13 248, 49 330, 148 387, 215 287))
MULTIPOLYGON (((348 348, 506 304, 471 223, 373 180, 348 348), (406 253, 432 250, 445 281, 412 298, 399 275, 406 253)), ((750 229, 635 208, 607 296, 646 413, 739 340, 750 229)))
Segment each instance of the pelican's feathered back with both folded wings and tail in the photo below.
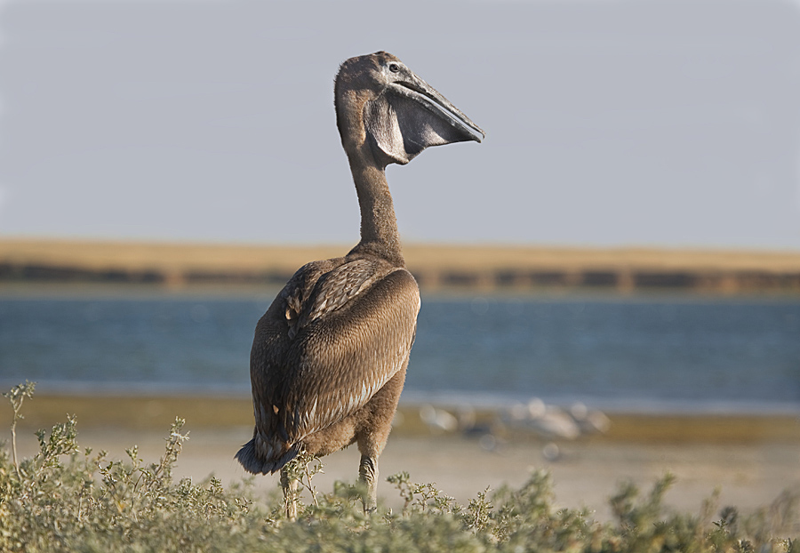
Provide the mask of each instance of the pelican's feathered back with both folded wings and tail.
POLYGON ((280 469, 304 437, 363 407, 407 362, 419 309, 411 273, 386 261, 300 268, 256 327, 256 429, 237 454, 245 468, 280 469))

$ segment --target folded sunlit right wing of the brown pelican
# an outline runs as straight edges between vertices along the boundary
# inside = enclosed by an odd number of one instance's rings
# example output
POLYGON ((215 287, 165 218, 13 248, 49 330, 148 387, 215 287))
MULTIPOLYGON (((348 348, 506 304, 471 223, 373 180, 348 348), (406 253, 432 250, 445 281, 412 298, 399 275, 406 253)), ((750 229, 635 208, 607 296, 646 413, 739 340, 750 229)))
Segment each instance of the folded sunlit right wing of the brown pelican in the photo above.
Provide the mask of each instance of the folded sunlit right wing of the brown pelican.
POLYGON ((374 264, 352 261, 320 278, 300 317, 276 413, 290 443, 364 406, 408 358, 417 283, 404 268, 377 270, 376 277, 374 264))

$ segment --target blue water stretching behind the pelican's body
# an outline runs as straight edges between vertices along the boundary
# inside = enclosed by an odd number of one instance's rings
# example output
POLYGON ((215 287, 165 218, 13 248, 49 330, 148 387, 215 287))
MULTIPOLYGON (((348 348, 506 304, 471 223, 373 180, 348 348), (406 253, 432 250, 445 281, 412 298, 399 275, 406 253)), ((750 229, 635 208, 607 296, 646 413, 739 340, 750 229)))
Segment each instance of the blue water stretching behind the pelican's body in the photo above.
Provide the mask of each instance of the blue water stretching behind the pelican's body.
MULTIPOLYGON (((249 394, 271 298, 0 299, 0 383, 249 394)), ((800 411, 796 298, 423 297, 406 399, 800 411)))

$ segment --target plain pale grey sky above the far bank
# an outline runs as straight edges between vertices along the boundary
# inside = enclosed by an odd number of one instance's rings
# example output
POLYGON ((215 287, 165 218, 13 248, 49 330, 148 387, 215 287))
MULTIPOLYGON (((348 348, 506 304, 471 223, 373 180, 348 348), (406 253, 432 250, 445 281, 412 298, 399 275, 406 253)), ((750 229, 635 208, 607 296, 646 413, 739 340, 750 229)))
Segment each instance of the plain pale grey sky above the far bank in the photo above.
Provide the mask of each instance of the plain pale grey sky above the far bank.
POLYGON ((0 239, 355 244, 377 50, 487 134, 388 168, 405 241, 800 251, 788 0, 3 0, 0 239))

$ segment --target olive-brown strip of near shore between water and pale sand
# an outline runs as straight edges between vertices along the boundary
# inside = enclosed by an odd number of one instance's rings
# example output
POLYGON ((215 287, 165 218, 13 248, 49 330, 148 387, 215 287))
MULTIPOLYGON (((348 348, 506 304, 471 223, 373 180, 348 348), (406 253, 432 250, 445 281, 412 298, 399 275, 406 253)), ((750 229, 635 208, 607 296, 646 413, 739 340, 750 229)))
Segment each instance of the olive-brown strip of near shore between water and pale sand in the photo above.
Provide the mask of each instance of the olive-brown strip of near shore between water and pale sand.
MULTIPOLYGON (((10 420, 11 406, 0 409, 0 416, 10 420)), ((492 434, 500 439, 544 439, 529 427, 503 421, 508 407, 461 405, 469 411, 473 423, 469 429, 445 431, 426 423, 422 409, 458 414, 454 406, 436 402, 402 400, 393 435, 405 437, 459 436, 492 434)), ((551 407, 555 407, 551 405, 551 407)), ((590 405, 589 407, 594 407, 590 405)), ((560 407, 555 407, 561 410, 560 407)), ((169 429, 176 416, 187 426, 202 430, 252 428, 252 399, 249 396, 207 395, 71 395, 37 392, 26 400, 20 429, 49 429, 64 421, 67 414, 77 417, 79 429, 120 429, 158 431, 169 429)), ((796 442, 800 444, 800 413, 676 413, 603 412, 609 425, 605 432, 564 439, 608 442, 668 443, 752 443, 757 441, 796 442)), ((553 437, 558 439, 558 437, 553 437)))

